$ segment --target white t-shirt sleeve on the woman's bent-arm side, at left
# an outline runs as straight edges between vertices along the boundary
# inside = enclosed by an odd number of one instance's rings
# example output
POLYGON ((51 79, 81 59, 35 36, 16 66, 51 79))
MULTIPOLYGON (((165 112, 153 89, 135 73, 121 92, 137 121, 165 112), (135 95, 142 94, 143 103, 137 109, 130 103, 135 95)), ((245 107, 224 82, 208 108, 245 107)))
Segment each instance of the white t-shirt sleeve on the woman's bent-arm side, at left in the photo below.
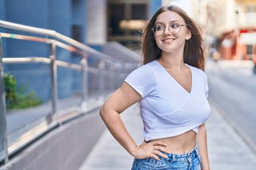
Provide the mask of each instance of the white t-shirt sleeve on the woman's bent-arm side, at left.
POLYGON ((152 68, 148 65, 142 65, 132 71, 125 79, 125 82, 131 85, 141 97, 146 97, 154 91, 156 81, 152 68))

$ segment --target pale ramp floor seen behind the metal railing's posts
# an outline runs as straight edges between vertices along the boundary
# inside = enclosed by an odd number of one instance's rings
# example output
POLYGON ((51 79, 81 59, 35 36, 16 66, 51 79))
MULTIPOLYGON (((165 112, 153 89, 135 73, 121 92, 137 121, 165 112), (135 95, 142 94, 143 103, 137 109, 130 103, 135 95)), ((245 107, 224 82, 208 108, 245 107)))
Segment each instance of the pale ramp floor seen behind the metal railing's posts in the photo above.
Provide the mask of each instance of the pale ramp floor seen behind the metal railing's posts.
MULTIPOLYGON (((95 108, 102 105, 104 98, 113 91, 105 91, 100 97, 97 93, 92 93, 88 99, 81 105, 82 97, 73 96, 66 99, 58 99, 57 112, 55 118, 61 123, 61 119, 67 116, 77 108, 82 112, 90 112, 95 108)), ((33 108, 22 110, 10 110, 7 112, 7 141, 9 148, 16 148, 26 140, 30 140, 32 137, 36 137, 37 133, 35 128, 46 121, 47 115, 51 112, 51 103, 43 103, 33 108), (28 135, 28 134, 33 135, 28 135), (28 138, 27 138, 28 137, 28 138)), ((41 131, 39 130, 39 133, 41 131)), ((11 150, 13 151, 13 150, 11 150)))

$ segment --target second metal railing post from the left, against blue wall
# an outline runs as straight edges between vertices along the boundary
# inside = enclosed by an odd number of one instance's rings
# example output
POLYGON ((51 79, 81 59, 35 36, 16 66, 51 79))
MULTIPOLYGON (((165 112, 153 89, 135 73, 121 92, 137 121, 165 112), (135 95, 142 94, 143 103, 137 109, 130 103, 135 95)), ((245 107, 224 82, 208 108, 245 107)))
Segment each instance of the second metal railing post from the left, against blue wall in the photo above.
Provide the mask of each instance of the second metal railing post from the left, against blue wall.
POLYGON ((56 42, 51 43, 51 103, 52 111, 49 117, 49 121, 53 120, 54 114, 57 112, 57 64, 56 64, 56 42))

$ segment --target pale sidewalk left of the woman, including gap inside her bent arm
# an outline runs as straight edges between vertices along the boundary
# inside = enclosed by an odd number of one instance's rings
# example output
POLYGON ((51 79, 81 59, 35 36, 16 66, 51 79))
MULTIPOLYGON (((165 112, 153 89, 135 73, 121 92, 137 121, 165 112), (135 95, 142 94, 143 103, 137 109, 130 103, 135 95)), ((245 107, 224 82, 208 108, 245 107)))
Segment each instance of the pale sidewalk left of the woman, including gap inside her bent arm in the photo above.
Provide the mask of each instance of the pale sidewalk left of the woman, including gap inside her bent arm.
MULTIPOLYGON (((139 116, 139 105, 135 103, 125 110, 121 118, 135 142, 142 143, 143 124, 139 116)), ((106 129, 79 170, 125 170, 131 169, 132 163, 133 157, 106 129)))

